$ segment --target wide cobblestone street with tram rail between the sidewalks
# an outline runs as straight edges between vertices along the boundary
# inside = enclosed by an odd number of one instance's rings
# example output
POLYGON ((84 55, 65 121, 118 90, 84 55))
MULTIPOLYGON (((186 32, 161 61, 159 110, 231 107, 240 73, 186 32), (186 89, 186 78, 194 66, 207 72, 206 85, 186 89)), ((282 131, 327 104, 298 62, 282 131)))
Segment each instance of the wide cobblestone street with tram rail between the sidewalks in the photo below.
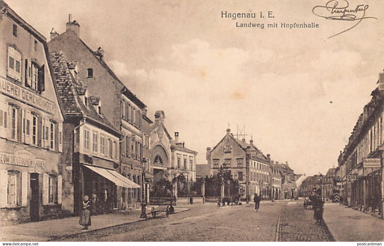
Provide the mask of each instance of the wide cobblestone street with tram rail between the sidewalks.
POLYGON ((302 203, 296 201, 262 203, 258 213, 253 203, 222 208, 206 204, 168 218, 101 229, 58 241, 332 241, 326 227, 316 224, 312 215, 312 210, 304 210, 302 203))

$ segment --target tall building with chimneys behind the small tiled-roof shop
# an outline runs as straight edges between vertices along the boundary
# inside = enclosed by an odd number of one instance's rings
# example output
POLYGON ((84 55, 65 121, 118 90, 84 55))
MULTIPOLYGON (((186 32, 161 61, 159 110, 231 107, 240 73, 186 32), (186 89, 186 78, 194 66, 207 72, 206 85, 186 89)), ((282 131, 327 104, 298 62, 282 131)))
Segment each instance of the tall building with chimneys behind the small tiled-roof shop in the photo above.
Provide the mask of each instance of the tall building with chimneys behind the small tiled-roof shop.
MULTIPOLYGON (((78 79, 90 94, 101 99, 105 117, 122 133, 118 147, 119 172, 143 187, 145 160, 149 160, 149 147, 144 151, 144 144, 150 142, 148 132, 146 136, 143 132, 143 125, 149 120, 145 117, 146 105, 109 68, 104 61, 104 50, 101 47, 92 50, 81 40, 80 25, 71 20, 71 15, 65 32, 59 35, 52 29, 48 46, 51 51, 62 51, 68 61, 78 62, 78 79)), ((147 196, 145 192, 141 188, 134 193, 129 206, 138 207, 147 196)))

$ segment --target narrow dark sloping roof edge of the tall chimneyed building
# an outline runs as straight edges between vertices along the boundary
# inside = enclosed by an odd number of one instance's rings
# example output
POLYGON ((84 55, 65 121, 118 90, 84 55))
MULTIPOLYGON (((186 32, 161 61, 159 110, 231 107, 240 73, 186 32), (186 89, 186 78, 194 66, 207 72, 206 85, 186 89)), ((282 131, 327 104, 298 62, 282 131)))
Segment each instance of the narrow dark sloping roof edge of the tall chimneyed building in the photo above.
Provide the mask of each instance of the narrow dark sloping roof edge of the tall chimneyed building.
MULTIPOLYGON (((86 43, 84 43, 83 40, 81 40, 81 38, 79 38, 76 33, 74 33, 73 31, 71 30, 67 30, 63 33, 61 33, 59 36, 55 37, 53 40, 57 40, 58 38, 64 38, 66 35, 73 35, 73 36, 76 36, 78 38, 78 40, 86 47, 86 49, 94 56, 94 58, 96 60, 99 61, 99 63, 101 64, 101 66, 103 66, 104 69, 106 69, 106 71, 109 73, 109 75, 114 78, 116 81, 118 81, 119 84, 121 84, 121 86, 123 86, 123 89, 122 89, 122 93, 127 96, 133 103, 135 103, 139 108, 141 109, 144 109, 144 107, 146 107, 146 105, 144 104, 144 102, 142 102, 132 91, 130 91, 125 85, 124 83, 121 82, 121 80, 119 79, 119 77, 112 71, 112 69, 108 66, 108 64, 103 60, 103 59, 100 59, 99 56, 96 55, 95 51, 93 51, 86 43)), ((52 40, 51 40, 52 41, 52 40)), ((48 45, 51 43, 48 42, 48 45)))

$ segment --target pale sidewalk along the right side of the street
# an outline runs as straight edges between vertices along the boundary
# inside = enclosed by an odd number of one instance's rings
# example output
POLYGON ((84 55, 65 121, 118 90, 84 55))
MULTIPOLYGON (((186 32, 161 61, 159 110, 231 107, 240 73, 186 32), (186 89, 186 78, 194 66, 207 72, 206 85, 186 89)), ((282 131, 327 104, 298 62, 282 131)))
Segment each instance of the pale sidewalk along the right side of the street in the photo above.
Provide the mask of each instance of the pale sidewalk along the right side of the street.
POLYGON ((353 208, 326 203, 323 219, 336 241, 384 241, 384 220, 353 208))

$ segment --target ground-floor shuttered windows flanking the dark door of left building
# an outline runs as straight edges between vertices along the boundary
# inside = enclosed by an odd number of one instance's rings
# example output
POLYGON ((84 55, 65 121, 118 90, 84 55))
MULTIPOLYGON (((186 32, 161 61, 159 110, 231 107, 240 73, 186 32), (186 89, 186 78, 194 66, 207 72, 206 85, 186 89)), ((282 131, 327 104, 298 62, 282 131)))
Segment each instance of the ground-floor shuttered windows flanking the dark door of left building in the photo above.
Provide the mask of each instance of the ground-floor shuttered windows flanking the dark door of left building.
POLYGON ((40 187, 39 177, 42 177, 41 204, 60 204, 61 175, 57 176, 48 173, 39 175, 38 173, 20 172, 18 170, 1 170, 0 207, 15 208, 27 206, 28 187, 30 187, 30 183, 32 185, 32 182, 37 182, 35 186, 40 187))

